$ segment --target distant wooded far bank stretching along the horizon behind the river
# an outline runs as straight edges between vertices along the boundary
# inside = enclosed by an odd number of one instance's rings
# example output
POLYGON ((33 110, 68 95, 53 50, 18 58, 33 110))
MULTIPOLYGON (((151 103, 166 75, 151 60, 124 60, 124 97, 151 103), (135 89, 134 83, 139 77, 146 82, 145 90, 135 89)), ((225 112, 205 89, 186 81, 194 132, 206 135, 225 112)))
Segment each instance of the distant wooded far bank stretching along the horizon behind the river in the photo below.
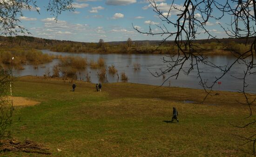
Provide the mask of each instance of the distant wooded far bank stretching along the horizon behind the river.
MULTIPOLYGON (((200 39, 193 41, 193 50, 202 54, 231 54, 230 51, 240 53, 249 49, 248 44, 253 39, 200 39), (247 44, 246 44, 247 43, 247 44)), ((31 36, 0 36, 0 47, 30 47, 34 49, 49 49, 54 52, 89 52, 89 53, 160 53, 174 54, 177 46, 174 41, 135 40, 97 43, 76 42, 68 40, 42 39, 31 36), (161 46, 159 46, 161 45, 161 46)), ((184 45, 186 48, 186 45, 184 45)))

